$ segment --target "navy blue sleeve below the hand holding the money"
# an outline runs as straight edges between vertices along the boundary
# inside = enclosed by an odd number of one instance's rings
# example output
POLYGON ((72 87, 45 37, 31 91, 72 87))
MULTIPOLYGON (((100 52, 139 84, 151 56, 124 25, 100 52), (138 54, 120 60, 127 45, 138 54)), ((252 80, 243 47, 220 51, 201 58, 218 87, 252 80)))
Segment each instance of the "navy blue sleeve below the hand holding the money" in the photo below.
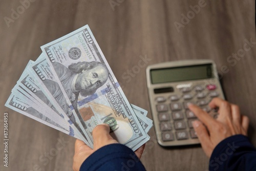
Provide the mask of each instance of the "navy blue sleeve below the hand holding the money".
POLYGON ((88 170, 145 170, 131 148, 122 144, 110 144, 99 148, 80 167, 88 170))

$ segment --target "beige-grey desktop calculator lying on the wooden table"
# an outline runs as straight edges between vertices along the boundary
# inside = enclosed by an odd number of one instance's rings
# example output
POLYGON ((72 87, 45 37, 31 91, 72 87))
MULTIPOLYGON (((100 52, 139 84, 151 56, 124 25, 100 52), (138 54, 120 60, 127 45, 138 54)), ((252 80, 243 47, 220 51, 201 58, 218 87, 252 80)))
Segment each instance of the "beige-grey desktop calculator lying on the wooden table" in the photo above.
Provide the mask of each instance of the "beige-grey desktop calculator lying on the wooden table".
POLYGON ((216 64, 212 60, 180 60, 158 63, 146 69, 158 143, 162 146, 199 144, 192 122, 197 119, 188 109, 194 103, 212 117, 212 98, 224 99, 216 64))

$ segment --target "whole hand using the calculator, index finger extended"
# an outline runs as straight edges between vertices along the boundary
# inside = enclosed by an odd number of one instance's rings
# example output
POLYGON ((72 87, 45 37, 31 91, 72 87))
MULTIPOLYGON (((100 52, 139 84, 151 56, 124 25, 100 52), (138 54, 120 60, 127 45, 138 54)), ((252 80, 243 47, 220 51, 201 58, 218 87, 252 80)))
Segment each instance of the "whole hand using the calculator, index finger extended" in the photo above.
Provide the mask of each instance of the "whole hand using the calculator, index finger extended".
POLYGON ((214 98, 209 103, 209 107, 211 109, 219 108, 217 119, 214 119, 194 104, 188 105, 189 110, 200 120, 194 121, 193 127, 208 157, 211 156, 217 144, 225 138, 237 134, 246 136, 249 126, 248 117, 241 115, 239 107, 235 104, 220 98, 214 98))

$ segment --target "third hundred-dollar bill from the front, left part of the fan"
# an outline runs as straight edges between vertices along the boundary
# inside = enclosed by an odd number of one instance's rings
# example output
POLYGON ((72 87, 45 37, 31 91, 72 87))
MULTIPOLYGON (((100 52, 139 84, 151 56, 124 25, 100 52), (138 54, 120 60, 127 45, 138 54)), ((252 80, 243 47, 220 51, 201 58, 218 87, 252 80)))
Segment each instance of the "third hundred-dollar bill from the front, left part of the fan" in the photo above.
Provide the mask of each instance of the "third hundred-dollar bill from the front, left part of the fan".
MULTIPOLYGON (((32 64, 32 63, 31 63, 32 64)), ((34 99, 32 101, 36 101, 37 104, 39 104, 39 109, 41 109, 43 112, 45 112, 48 108, 50 108, 47 114, 49 114, 47 117, 50 119, 54 120, 55 122, 59 122, 61 120, 65 120, 67 124, 70 124, 72 129, 74 130, 74 133, 76 137, 82 137, 82 135, 79 133, 79 131, 76 129, 75 125, 73 122, 68 118, 66 114, 61 114, 63 113, 62 110, 57 111, 55 106, 51 103, 47 95, 44 93, 43 90, 38 85, 38 82, 34 78, 32 74, 28 72, 28 69, 25 69, 23 72, 22 76, 20 76, 19 80, 17 81, 17 86, 15 86, 17 90, 27 93, 27 96, 30 97, 30 99, 34 99), (55 114, 55 115, 53 115, 55 114), (57 115, 56 115, 57 114, 57 115), (58 117, 60 116, 60 117, 58 117), (56 120, 57 119, 57 120, 56 120)), ((79 138, 81 139, 81 138, 79 138)))

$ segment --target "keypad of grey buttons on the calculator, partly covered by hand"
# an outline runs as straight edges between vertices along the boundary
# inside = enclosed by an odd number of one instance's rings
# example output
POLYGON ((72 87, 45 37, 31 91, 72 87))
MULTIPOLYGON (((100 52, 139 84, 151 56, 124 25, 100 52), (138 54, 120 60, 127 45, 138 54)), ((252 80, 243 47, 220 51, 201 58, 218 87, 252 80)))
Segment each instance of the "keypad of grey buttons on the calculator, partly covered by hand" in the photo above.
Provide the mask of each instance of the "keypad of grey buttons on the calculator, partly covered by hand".
MULTIPOLYGON (((215 84, 199 84, 191 88, 178 89, 179 92, 155 98, 158 112, 159 127, 162 141, 182 141, 197 139, 193 129, 196 115, 189 111, 188 104, 197 104, 202 110, 209 112, 208 103, 218 97, 218 88, 215 84)), ((218 115, 212 115, 217 118, 218 115)))

